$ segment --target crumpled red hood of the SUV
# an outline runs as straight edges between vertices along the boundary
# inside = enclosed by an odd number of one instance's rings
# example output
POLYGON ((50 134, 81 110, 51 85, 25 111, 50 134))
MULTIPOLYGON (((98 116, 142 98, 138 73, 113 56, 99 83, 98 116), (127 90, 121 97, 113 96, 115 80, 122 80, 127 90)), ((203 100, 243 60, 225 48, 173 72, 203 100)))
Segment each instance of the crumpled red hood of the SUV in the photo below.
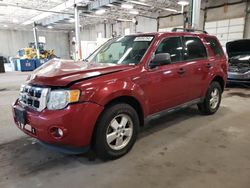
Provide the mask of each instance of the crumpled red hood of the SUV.
POLYGON ((36 69, 27 78, 28 84, 67 86, 92 77, 106 75, 131 68, 129 65, 85 63, 82 61, 53 59, 36 69))

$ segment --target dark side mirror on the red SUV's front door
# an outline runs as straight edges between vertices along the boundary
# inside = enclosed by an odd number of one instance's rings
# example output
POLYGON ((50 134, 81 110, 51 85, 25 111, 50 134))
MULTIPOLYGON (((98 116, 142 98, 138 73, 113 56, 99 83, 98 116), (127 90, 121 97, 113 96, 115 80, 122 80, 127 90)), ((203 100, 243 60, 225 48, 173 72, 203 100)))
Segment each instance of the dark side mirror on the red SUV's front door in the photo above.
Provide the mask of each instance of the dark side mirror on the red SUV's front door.
POLYGON ((171 56, 169 53, 156 54, 151 60, 149 66, 150 68, 155 68, 162 65, 168 65, 171 63, 171 56))

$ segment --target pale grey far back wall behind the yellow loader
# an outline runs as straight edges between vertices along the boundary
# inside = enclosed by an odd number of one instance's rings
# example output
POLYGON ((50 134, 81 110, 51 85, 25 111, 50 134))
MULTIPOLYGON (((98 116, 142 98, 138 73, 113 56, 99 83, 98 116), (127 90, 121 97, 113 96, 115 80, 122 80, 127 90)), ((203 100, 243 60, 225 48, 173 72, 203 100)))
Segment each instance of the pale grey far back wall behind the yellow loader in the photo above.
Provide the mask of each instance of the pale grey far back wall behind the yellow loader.
MULTIPOLYGON (((38 36, 46 37, 46 49, 55 49, 56 55, 69 58, 68 33, 58 31, 38 31, 38 36)), ((0 30, 0 55, 16 57, 17 51, 34 42, 32 31, 0 30)))

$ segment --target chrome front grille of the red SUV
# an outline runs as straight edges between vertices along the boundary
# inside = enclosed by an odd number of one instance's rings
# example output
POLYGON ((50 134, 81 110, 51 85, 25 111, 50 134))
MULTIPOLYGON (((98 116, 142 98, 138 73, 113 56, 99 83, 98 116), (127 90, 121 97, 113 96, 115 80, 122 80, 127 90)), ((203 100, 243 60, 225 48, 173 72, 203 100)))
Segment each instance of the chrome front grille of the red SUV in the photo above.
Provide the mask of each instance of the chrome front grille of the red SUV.
POLYGON ((31 107, 41 112, 46 108, 49 88, 41 88, 30 85, 22 85, 19 100, 22 105, 31 107))

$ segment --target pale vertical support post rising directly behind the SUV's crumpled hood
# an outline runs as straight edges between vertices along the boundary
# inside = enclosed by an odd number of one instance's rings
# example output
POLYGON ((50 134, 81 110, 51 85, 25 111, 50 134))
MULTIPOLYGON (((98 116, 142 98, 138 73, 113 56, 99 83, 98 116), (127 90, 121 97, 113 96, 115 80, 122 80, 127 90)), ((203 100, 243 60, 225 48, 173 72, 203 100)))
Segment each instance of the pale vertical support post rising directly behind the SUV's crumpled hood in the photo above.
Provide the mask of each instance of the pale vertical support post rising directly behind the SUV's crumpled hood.
POLYGON ((75 38, 76 38, 76 60, 82 59, 82 48, 81 48, 81 38, 80 38, 80 16, 79 9, 77 5, 74 5, 75 8, 75 38))

